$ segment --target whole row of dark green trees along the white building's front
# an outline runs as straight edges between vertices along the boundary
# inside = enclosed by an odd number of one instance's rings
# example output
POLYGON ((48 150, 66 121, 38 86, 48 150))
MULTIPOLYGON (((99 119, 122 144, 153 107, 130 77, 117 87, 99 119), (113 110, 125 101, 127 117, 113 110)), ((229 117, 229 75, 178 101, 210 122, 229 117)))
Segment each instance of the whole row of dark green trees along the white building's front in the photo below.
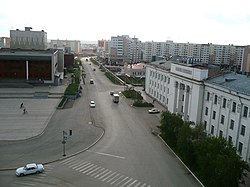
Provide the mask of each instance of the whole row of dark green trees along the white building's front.
POLYGON ((224 138, 209 136, 203 125, 186 122, 179 115, 163 112, 161 137, 206 187, 238 187, 244 184, 248 163, 224 138))

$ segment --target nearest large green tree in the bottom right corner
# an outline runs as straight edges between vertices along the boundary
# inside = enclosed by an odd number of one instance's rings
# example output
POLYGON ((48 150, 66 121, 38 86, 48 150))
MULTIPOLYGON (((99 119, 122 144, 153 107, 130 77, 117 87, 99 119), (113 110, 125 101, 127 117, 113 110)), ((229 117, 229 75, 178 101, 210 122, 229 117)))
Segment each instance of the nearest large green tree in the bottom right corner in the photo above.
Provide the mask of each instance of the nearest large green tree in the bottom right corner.
POLYGON ((248 164, 224 138, 207 137, 196 141, 197 174, 206 187, 238 187, 244 182, 248 164))

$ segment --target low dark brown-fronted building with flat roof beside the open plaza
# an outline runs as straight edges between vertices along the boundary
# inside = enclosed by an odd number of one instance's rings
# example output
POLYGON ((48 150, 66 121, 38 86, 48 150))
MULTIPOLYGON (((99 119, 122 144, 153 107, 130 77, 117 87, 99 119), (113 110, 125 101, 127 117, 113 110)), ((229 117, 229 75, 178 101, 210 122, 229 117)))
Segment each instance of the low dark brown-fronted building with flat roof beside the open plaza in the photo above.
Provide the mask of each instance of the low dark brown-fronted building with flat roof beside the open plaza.
POLYGON ((59 58, 58 50, 0 49, 0 79, 58 85, 63 77, 59 58))

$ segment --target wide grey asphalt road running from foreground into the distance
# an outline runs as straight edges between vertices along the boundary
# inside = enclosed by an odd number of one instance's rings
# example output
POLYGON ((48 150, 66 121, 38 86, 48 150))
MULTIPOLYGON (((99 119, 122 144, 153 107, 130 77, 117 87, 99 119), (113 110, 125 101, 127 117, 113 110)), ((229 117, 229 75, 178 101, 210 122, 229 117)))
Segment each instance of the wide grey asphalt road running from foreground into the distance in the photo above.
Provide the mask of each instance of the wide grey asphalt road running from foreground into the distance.
POLYGON ((56 111, 45 133, 36 139, 0 145, 0 163, 16 167, 31 160, 49 162, 62 157, 62 131, 73 130, 66 144, 70 155, 103 138, 87 151, 45 165, 45 172, 23 178, 14 171, 0 172, 0 186, 200 186, 179 160, 150 128, 159 124, 159 114, 148 108, 134 108, 121 97, 112 102, 111 90, 122 91, 103 75, 98 67, 85 63, 87 73, 82 97, 74 107, 56 111), (89 84, 89 79, 94 84, 89 84), (89 108, 90 100, 96 108, 89 108), (90 123, 91 122, 91 123, 90 123), (3 155, 3 157, 2 157, 3 155), (24 184, 24 185, 23 185, 24 184))

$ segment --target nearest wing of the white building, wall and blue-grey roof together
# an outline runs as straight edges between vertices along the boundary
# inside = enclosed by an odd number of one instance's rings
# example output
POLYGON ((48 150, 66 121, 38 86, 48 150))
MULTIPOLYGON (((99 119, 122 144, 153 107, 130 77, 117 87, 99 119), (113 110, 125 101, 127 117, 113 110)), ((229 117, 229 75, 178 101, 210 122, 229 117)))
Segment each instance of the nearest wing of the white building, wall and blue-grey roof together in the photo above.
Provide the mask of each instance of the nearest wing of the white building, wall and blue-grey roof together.
POLYGON ((250 78, 227 73, 204 85, 202 121, 207 133, 231 141, 250 162, 250 78))

